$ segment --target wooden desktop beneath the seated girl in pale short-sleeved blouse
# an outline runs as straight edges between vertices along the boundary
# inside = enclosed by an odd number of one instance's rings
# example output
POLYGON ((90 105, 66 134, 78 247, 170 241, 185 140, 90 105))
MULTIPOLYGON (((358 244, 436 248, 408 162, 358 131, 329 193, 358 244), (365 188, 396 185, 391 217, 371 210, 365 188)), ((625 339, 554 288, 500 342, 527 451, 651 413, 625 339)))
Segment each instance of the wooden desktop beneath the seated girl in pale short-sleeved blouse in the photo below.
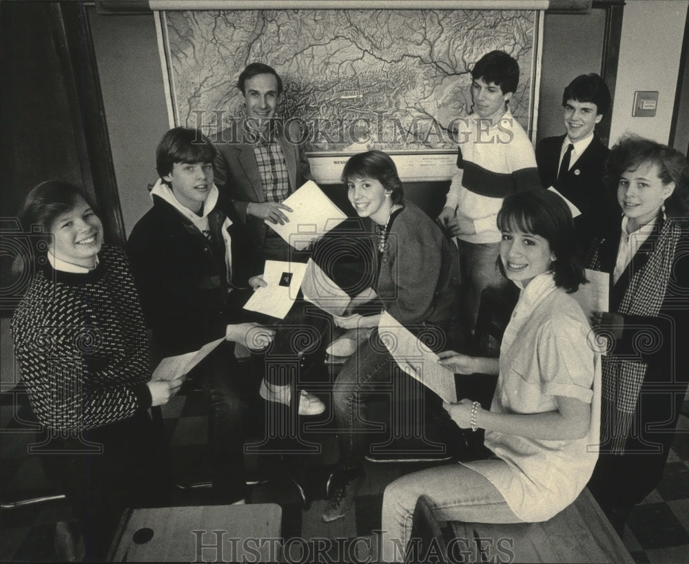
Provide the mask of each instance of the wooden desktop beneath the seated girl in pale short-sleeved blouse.
POLYGON ((455 552, 466 550, 465 562, 634 562, 586 488, 568 508, 542 523, 453 522, 452 529, 455 539, 463 541, 455 552), (475 550, 479 539, 483 556, 475 550))

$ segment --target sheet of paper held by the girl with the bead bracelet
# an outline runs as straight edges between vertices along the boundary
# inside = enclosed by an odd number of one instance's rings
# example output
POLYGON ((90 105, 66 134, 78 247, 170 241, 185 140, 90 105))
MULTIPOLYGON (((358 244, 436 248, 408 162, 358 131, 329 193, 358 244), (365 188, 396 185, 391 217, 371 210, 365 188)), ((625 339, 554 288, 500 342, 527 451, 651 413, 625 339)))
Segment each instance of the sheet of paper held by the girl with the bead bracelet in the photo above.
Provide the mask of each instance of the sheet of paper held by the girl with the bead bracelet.
POLYGON ((438 364, 438 355, 384 311, 378 333, 398 366, 449 403, 457 401, 455 375, 438 364))

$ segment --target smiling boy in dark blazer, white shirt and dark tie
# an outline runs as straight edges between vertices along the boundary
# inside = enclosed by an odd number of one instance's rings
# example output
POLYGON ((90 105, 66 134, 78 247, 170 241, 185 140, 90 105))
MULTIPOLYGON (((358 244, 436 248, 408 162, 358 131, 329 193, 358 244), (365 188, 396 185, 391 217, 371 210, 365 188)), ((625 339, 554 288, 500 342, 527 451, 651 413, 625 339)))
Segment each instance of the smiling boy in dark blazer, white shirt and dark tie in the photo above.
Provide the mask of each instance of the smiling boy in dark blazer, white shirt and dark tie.
POLYGON ((536 163, 543 187, 555 188, 581 212, 574 225, 585 252, 606 222, 621 213, 603 178, 609 149, 594 132, 610 109, 610 91, 597 74, 582 74, 564 89, 562 107, 566 134, 540 140, 536 163))

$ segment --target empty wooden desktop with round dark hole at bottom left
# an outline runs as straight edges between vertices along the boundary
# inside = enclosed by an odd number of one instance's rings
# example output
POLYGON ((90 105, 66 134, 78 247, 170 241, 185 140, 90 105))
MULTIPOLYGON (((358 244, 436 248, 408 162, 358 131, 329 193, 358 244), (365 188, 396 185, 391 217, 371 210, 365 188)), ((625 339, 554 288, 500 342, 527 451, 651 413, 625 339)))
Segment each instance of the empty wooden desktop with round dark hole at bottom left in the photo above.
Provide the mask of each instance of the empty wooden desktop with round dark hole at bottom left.
POLYGON ((110 547, 113 562, 277 562, 275 503, 127 510, 110 547))

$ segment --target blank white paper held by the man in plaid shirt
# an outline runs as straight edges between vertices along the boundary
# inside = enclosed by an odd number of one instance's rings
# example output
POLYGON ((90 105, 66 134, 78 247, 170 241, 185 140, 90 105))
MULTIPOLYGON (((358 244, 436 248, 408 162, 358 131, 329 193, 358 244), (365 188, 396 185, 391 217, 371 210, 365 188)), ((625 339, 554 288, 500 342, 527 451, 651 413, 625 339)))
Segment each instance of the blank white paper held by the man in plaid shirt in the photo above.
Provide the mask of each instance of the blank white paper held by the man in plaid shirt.
POLYGON ((280 225, 265 220, 265 224, 298 251, 306 249, 311 242, 347 219, 313 180, 306 182, 282 203, 292 209, 284 212, 289 223, 280 225))

